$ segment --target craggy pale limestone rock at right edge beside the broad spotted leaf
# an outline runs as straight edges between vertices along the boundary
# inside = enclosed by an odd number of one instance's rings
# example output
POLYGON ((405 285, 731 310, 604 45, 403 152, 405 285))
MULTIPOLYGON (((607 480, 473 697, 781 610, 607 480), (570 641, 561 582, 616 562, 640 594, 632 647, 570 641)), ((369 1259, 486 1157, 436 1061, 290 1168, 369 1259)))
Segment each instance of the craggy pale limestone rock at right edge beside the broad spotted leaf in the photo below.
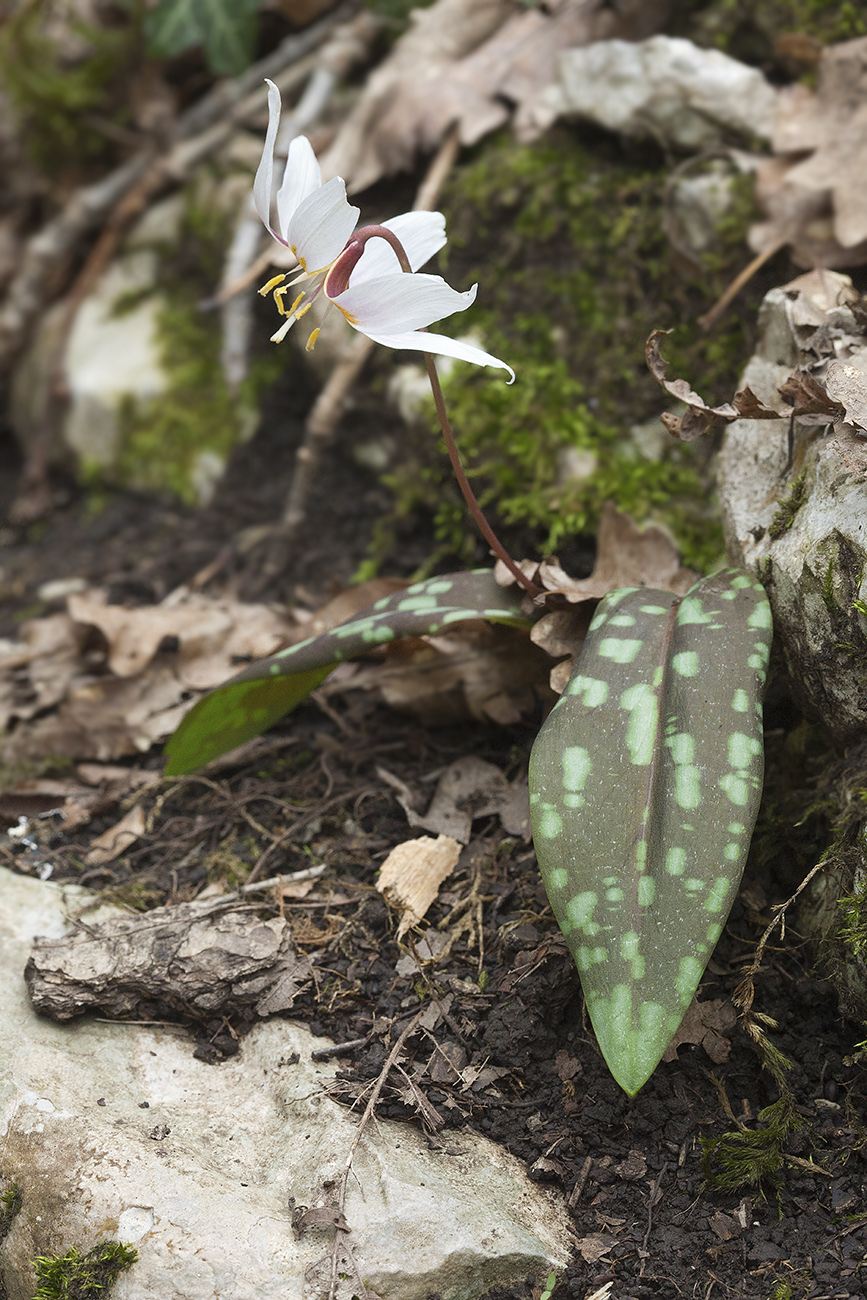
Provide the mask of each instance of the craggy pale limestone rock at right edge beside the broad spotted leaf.
MULTIPOLYGON (((845 361, 867 372, 867 338, 848 276, 815 270, 771 290, 741 387, 785 411, 779 386, 801 368, 822 382, 845 361)), ((718 482, 729 555, 758 573, 799 702, 841 738, 867 723, 867 434, 737 420, 718 482)))

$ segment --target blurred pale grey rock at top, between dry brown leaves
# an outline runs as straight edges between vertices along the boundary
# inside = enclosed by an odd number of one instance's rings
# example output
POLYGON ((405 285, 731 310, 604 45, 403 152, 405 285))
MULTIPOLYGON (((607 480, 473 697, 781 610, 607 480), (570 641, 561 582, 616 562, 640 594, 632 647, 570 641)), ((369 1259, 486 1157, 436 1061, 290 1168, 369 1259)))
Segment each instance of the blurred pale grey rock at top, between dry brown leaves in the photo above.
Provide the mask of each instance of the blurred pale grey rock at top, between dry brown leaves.
POLYGON ((686 150, 770 140, 777 95, 755 68, 677 36, 597 40, 560 56, 555 116, 686 150))

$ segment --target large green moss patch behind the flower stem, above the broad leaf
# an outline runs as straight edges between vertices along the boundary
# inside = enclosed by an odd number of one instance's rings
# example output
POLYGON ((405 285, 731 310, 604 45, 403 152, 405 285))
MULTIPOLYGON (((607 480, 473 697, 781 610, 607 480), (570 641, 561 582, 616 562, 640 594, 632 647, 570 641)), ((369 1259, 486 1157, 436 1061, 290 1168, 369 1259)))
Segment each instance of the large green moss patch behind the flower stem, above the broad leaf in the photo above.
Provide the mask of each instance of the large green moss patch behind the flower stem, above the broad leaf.
MULTIPOLYGON (((737 182, 707 264, 685 270, 663 231, 666 161, 647 159, 645 147, 632 153, 608 136, 558 129, 533 147, 499 138, 458 169, 443 204, 448 280, 480 282, 484 306, 471 328, 517 382, 459 367, 443 387, 473 485, 512 529, 513 547, 550 550, 593 532, 611 498, 640 523, 667 523, 688 563, 706 568, 723 549, 706 451, 662 426, 643 439, 630 429, 666 406, 643 360, 654 328, 672 329, 677 373, 701 376, 714 400, 731 394, 760 289, 714 338, 699 338, 693 322, 744 259, 751 199, 737 182)), ((467 324, 456 316, 442 328, 467 324)), ((396 520, 426 506, 442 552, 471 558, 463 508, 432 443, 389 484, 396 520)))

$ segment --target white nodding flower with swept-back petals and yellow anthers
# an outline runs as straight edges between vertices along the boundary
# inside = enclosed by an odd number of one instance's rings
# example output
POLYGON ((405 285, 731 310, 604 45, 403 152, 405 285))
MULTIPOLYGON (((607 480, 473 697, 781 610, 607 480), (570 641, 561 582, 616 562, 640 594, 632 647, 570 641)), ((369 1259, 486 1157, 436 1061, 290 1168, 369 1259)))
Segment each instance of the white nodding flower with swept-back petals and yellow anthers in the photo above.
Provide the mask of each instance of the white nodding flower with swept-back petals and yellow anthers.
MULTIPOLYGON (((286 276, 274 276, 260 290, 261 294, 273 290, 285 317, 273 342, 279 343, 324 292, 350 325, 374 343, 438 352, 476 365, 494 365, 508 370, 513 380, 512 368, 489 352, 443 334, 424 332, 424 326, 443 316, 467 311, 478 287, 473 285, 460 294, 441 276, 416 274, 446 242, 442 213, 404 212, 383 222, 386 231, 396 237, 406 251, 412 270, 407 274, 387 237, 378 235, 382 226, 368 226, 352 234, 359 209, 347 202, 341 177, 322 185, 316 155, 303 135, 295 136, 289 147, 283 181, 274 196, 274 143, 281 99, 273 82, 268 82, 268 134, 253 182, 253 200, 274 239, 291 248, 302 266, 300 274, 289 282, 285 283, 286 276), (277 209, 276 226, 270 224, 272 198, 277 209), (300 291, 291 306, 286 306, 283 299, 296 286, 300 291)), ((311 334, 308 347, 313 346, 317 334, 318 330, 311 334)))

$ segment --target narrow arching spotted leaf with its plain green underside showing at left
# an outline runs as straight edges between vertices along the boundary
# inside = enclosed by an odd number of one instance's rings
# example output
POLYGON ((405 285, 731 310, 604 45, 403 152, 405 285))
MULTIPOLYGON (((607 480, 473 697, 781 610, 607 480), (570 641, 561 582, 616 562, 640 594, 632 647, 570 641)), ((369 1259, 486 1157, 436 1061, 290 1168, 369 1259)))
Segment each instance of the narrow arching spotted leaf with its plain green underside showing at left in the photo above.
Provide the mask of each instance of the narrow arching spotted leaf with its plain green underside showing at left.
POLYGON ((348 623, 259 659, 194 705, 166 742, 166 776, 203 767, 266 731, 290 712, 339 663, 399 637, 442 632, 452 623, 487 619, 529 627, 521 595, 502 588, 491 569, 447 573, 377 601, 348 623))

